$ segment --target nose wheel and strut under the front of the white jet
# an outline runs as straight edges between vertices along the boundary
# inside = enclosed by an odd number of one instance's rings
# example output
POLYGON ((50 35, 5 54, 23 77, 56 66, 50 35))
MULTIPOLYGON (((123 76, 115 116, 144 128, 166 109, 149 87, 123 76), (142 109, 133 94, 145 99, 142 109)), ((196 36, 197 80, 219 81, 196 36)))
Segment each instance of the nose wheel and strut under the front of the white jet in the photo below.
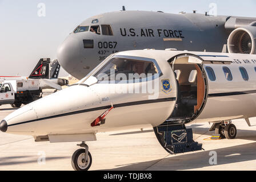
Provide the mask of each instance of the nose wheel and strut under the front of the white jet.
POLYGON ((77 146, 83 147, 76 150, 71 158, 71 164, 75 171, 87 171, 91 167, 91 154, 89 152, 89 147, 85 142, 77 144, 77 146))

